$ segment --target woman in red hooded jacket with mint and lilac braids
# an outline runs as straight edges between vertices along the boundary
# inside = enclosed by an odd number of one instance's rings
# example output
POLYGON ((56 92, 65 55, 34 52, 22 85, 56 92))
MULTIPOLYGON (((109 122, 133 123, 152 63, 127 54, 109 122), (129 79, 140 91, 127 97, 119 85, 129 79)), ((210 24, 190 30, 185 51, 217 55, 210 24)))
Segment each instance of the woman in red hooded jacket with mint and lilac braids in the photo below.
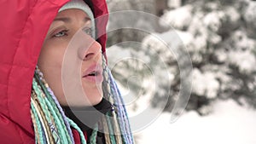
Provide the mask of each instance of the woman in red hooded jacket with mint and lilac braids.
POLYGON ((108 14, 106 2, 86 3, 0 3, 1 143, 133 142, 125 107, 120 105, 119 91, 102 56, 106 16, 95 23, 92 20, 93 16, 108 14), (81 39, 77 41, 74 36, 81 39), (79 54, 74 59, 80 60, 80 69, 74 76, 79 80, 71 84, 68 80, 63 82, 71 75, 61 77, 67 71, 64 65, 68 66, 65 52, 70 49, 69 44, 79 54), (86 48, 81 50, 79 44, 86 48), (78 82, 82 92, 77 92, 77 87, 70 88, 78 82), (73 95, 69 95, 70 91, 73 95))

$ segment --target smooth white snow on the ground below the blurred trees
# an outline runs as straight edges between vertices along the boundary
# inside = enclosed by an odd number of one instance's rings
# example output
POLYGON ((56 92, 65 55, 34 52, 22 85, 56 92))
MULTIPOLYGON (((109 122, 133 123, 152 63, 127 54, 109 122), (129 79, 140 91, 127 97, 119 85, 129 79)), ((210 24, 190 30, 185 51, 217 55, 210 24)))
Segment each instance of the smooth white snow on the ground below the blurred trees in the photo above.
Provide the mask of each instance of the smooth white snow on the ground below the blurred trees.
POLYGON ((138 144, 255 144, 256 112, 235 101, 218 101, 210 115, 185 112, 173 124, 163 112, 153 124, 135 135, 138 144))

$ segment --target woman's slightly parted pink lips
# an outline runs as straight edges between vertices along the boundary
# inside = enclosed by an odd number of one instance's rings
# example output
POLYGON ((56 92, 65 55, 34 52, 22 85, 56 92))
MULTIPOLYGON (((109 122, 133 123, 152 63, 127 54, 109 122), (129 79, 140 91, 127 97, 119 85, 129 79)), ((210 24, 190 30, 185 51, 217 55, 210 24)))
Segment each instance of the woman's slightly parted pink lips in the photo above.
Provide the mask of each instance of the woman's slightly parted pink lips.
POLYGON ((102 83, 102 66, 100 65, 91 65, 87 68, 82 75, 85 80, 93 82, 93 83, 102 83))

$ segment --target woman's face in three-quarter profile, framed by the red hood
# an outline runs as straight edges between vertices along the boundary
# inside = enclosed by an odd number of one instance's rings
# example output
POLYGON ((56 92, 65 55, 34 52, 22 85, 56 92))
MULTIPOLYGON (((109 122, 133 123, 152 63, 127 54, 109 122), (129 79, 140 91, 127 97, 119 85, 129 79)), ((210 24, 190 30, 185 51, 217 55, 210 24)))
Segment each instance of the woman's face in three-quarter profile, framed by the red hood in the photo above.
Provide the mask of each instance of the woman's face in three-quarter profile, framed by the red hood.
POLYGON ((90 36, 90 18, 84 11, 67 9, 56 15, 38 67, 62 106, 84 107, 102 101, 101 50, 100 43, 90 36))

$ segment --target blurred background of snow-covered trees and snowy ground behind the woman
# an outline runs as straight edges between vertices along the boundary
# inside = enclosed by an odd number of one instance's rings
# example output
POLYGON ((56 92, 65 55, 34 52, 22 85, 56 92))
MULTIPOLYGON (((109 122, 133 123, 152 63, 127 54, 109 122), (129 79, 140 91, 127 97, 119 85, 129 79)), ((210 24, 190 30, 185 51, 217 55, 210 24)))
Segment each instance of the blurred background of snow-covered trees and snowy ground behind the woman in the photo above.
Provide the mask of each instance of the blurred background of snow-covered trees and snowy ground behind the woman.
POLYGON ((108 64, 130 101, 129 113, 164 107, 153 124, 134 134, 138 144, 256 143, 256 1, 107 2, 110 12, 137 10, 159 17, 110 17, 108 24, 133 21, 148 29, 108 32, 108 64), (176 41, 173 33, 183 42, 177 49, 186 48, 190 55, 193 84, 186 111, 171 124, 182 81, 177 61, 183 57, 166 47, 176 41))

